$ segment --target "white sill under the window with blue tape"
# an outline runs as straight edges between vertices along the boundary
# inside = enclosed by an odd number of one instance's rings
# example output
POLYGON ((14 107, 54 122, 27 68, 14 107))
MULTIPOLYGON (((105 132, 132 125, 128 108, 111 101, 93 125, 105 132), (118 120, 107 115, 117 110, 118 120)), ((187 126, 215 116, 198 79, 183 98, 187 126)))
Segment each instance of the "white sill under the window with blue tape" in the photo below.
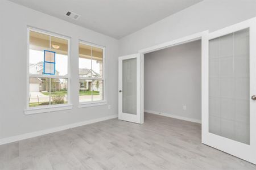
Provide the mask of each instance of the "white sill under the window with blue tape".
POLYGON ((51 107, 40 107, 40 108, 28 108, 24 110, 26 115, 28 114, 37 114, 37 113, 46 113, 46 112, 54 112, 54 111, 63 111, 72 109, 72 104, 63 104, 63 105, 55 105, 51 107))

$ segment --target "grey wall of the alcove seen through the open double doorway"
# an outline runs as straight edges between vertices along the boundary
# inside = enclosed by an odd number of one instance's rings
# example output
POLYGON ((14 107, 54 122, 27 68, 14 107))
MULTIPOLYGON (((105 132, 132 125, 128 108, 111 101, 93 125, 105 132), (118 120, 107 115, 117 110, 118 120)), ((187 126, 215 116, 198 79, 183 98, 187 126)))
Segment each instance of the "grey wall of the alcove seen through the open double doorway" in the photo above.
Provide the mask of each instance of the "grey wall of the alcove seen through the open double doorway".
POLYGON ((200 122, 201 40, 144 55, 144 109, 200 122))

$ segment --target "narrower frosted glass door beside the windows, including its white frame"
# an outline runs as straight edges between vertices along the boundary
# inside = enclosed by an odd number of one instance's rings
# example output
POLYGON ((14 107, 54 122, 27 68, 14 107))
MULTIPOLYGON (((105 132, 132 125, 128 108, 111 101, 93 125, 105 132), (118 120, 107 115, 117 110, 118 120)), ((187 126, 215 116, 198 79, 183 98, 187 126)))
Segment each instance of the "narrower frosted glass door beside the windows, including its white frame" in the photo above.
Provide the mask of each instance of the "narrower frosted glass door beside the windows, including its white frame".
POLYGON ((118 119, 143 124, 141 65, 143 56, 132 54, 118 58, 118 119))

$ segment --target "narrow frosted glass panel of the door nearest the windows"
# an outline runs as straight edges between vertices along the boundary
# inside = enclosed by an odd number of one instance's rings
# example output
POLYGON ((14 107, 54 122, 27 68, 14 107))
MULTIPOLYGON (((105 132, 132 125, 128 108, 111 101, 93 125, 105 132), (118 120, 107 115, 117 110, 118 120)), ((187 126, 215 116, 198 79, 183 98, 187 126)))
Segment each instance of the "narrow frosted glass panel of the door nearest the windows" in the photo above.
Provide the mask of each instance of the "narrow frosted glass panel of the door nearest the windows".
POLYGON ((137 114, 137 58, 123 60, 123 113, 137 114))

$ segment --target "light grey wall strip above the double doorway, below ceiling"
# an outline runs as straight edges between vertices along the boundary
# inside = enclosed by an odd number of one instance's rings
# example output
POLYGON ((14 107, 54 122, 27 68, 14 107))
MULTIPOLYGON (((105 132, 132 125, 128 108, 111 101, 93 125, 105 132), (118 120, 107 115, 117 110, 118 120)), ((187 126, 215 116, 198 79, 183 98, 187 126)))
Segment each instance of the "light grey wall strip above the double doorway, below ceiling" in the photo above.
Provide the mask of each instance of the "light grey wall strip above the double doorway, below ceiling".
POLYGON ((255 16, 255 0, 204 0, 123 37, 119 56, 207 29, 216 31, 255 16))

